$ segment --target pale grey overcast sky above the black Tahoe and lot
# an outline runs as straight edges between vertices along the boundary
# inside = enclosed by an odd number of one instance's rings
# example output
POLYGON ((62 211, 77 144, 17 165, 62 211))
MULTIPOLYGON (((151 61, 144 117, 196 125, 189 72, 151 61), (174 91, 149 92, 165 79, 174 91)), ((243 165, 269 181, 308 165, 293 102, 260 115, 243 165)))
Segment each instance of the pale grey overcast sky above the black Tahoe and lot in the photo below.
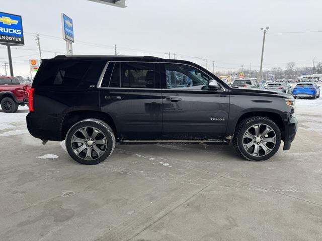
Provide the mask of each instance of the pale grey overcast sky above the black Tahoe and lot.
MULTIPOLYGON (((322 1, 316 0, 127 0, 125 9, 87 0, 2 1, 0 11, 21 15, 25 46, 12 47, 15 75, 29 74, 28 60, 38 58, 33 33, 40 34, 42 58, 65 54, 60 13, 72 18, 74 54, 154 55, 166 52, 192 58, 208 58, 208 69, 259 69, 263 33, 269 26, 264 51, 264 69, 294 61, 296 66, 322 62, 322 32, 273 34, 276 32, 322 31, 322 1), (271 33, 271 34, 270 34, 271 33), (55 36, 56 38, 44 35, 55 36), (59 38, 59 39, 58 39, 59 38), (104 48, 79 41, 104 45, 104 48)), ((171 56, 173 58, 173 56, 171 56)), ((0 46, 0 62, 8 62, 0 46)), ((0 73, 4 73, 2 64, 0 73)))

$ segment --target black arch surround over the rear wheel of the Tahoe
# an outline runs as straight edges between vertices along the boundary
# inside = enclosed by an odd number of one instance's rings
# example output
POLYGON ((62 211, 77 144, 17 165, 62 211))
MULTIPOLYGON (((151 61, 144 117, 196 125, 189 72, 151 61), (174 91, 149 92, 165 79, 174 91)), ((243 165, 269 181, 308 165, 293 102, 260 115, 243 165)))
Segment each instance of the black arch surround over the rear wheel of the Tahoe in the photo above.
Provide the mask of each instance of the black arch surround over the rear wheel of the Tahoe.
POLYGON ((113 130, 115 138, 117 138, 117 129, 113 118, 105 112, 96 111, 96 110, 75 110, 66 113, 63 116, 61 122, 61 138, 65 139, 68 130, 77 122, 82 121, 83 119, 96 118, 101 119, 107 123, 113 130))

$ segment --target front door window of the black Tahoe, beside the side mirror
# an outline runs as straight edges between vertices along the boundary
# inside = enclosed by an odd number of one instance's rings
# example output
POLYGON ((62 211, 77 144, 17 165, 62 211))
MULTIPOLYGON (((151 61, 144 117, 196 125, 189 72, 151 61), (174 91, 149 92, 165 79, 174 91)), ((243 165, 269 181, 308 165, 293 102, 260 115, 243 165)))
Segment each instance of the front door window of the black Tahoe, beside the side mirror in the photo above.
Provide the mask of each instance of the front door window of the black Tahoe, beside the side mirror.
POLYGON ((184 64, 165 64, 167 89, 202 89, 210 78, 198 69, 184 64))

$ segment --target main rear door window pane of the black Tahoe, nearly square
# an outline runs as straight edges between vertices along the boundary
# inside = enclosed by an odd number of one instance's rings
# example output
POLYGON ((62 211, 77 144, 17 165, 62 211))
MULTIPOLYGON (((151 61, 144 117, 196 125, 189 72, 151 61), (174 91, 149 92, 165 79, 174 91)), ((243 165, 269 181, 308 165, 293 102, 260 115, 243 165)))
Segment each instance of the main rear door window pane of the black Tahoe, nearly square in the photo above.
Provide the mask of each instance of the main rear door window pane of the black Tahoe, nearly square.
POLYGON ((155 88, 155 64, 122 63, 121 87, 155 88))

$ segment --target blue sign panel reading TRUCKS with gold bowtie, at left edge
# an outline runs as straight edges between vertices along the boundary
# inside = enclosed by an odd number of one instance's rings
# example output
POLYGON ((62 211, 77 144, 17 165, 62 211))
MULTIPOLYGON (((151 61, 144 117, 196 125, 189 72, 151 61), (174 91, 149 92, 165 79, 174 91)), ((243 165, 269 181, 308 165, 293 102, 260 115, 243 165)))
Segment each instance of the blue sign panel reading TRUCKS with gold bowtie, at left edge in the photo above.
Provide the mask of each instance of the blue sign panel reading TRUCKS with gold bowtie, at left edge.
POLYGON ((24 45, 21 16, 0 12, 0 44, 24 45))

